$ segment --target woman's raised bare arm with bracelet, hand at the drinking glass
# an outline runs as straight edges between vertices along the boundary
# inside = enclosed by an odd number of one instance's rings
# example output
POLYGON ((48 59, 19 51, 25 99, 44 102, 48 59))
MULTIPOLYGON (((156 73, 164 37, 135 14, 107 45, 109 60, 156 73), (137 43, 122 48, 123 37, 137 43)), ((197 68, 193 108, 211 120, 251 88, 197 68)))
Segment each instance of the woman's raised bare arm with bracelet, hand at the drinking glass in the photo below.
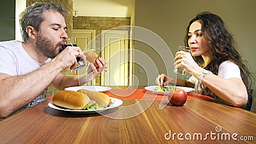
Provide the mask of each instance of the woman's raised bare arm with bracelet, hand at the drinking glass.
MULTIPOLYGON (((195 63, 191 54, 182 54, 186 56, 184 56, 182 60, 175 61, 175 65, 177 64, 179 67, 184 68, 186 72, 189 72, 189 74, 196 77, 196 79, 199 79, 204 68, 199 67, 195 63)), ((230 72, 225 71, 225 74, 230 75, 229 73, 230 72)), ((243 107, 246 105, 248 100, 247 90, 243 81, 237 77, 222 78, 214 74, 209 74, 203 77, 202 84, 207 86, 207 88, 218 97, 234 106, 243 107)))

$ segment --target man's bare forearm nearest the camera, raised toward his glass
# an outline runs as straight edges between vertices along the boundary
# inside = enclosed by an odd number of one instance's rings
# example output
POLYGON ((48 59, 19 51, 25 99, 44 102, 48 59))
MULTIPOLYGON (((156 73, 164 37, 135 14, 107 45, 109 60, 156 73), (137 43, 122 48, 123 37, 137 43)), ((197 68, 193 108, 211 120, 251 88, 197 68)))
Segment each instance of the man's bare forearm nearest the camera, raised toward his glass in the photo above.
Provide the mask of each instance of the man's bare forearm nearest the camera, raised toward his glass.
POLYGON ((0 73, 0 118, 10 115, 35 99, 61 70, 62 67, 56 61, 51 61, 23 76, 0 73))

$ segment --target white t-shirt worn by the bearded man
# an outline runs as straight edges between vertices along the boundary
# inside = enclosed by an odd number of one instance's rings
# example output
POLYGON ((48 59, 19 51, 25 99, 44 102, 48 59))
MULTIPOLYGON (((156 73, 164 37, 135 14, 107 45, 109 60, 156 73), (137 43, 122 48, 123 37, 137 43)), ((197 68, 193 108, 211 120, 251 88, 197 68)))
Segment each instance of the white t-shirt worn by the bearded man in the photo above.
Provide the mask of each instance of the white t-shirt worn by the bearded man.
MULTIPOLYGON (((22 76, 35 71, 45 63, 49 63, 49 61, 51 61, 50 58, 44 63, 38 63, 33 60, 22 47, 22 42, 17 40, 0 42, 0 73, 8 74, 10 76, 22 76)), ((46 92, 47 90, 44 90, 44 92, 38 95, 35 100, 24 106, 22 109, 30 108, 45 100, 46 92)))

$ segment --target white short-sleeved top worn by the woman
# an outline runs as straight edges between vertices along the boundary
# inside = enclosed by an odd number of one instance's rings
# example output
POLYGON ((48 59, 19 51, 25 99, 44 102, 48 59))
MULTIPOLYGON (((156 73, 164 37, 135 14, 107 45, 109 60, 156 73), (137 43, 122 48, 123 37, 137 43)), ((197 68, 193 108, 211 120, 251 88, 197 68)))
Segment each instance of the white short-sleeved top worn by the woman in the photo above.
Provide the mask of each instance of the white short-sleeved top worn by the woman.
MULTIPOLYGON (((217 76, 222 77, 224 79, 230 79, 232 77, 242 79, 239 67, 235 63, 233 63, 232 61, 229 61, 229 60, 221 63, 217 76)), ((190 83, 195 84, 195 89, 196 89, 195 92, 202 93, 202 92, 200 92, 200 90, 198 90, 198 79, 196 79, 196 77, 191 76, 191 77, 189 77, 188 81, 190 83)), ((221 100, 219 97, 215 97, 215 99, 221 100)), ((221 100, 221 101, 223 101, 223 100, 221 100)))

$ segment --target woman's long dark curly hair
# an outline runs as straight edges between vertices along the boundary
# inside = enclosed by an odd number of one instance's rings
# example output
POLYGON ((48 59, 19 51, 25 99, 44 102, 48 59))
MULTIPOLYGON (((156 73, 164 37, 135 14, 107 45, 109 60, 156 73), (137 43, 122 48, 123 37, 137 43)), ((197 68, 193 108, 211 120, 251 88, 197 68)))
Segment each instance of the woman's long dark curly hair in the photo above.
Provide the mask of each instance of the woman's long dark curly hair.
MULTIPOLYGON (((186 31, 184 43, 188 46, 188 31, 189 27, 196 20, 202 22, 202 33, 207 39, 209 45, 209 52, 211 55, 211 62, 205 67, 210 70, 213 74, 218 74, 218 69, 223 61, 230 60, 240 68, 241 77, 243 83, 247 88, 248 94, 255 82, 255 76, 248 69, 247 61, 241 59, 239 52, 236 51, 236 42, 232 35, 228 32, 223 20, 218 15, 214 15, 211 12, 203 12, 196 15, 194 19, 189 22, 189 26, 186 31)), ((202 56, 193 57, 198 65, 204 65, 202 56)), ((215 97, 214 93, 209 88, 203 88, 202 94, 215 97)))

